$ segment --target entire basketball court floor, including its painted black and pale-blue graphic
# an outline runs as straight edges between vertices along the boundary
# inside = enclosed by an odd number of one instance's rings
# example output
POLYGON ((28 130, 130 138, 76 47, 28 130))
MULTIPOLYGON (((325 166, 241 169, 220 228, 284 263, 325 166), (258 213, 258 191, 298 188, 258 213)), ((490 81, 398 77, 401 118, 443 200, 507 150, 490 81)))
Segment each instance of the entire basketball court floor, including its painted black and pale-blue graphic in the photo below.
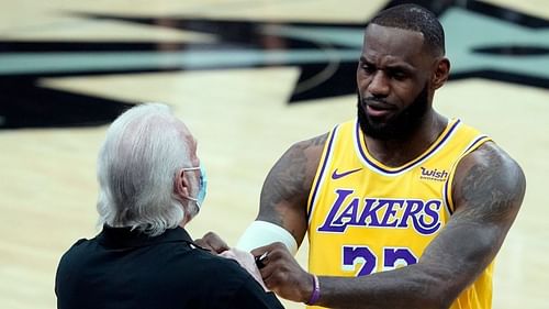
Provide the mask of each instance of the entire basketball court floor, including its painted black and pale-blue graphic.
MULTIPOLYGON (((234 244, 256 216, 274 161, 355 115, 363 26, 406 2, 0 1, 7 309, 55 308, 60 255, 98 232, 96 156, 122 110, 160 101, 187 122, 210 180, 189 231, 213 230, 234 244)), ((452 76, 436 109, 492 135, 526 173, 523 209, 497 257, 494 308, 547 308, 549 3, 416 2, 447 32, 452 76)), ((305 267, 306 247, 298 257, 305 267)))

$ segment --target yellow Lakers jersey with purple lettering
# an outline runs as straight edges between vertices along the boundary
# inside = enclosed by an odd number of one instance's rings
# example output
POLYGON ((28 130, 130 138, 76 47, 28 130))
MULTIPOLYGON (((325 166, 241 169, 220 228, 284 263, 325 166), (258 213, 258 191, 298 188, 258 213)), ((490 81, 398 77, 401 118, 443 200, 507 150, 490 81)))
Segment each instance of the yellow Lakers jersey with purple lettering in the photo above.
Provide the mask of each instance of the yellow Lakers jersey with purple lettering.
MULTIPOLYGON (((334 128, 309 196, 310 272, 363 276, 417 263, 450 219, 458 162, 486 141, 450 120, 422 155, 389 167, 369 154, 357 120, 334 128)), ((491 308, 492 268, 450 308, 491 308)))

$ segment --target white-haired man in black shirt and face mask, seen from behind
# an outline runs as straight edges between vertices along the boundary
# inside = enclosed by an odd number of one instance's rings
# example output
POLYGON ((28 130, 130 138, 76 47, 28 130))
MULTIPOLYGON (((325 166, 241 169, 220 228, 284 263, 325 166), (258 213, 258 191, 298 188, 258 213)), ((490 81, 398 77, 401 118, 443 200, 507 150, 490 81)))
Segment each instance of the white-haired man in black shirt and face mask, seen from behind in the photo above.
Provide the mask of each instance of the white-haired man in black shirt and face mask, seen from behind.
POLYGON ((111 124, 98 178, 103 229, 61 257, 59 309, 282 308, 236 262, 210 254, 184 230, 206 180, 197 141, 167 106, 137 106, 111 124))

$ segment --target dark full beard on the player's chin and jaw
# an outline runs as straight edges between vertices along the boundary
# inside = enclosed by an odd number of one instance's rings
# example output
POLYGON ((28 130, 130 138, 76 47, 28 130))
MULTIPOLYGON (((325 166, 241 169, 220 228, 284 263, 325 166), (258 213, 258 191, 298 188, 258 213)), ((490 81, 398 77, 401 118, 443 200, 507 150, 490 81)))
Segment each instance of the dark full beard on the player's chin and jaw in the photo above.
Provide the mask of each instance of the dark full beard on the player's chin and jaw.
MULTIPOLYGON (((360 129, 367 136, 381 141, 404 141, 410 137, 417 131, 429 108, 427 84, 425 84, 412 104, 384 122, 368 115, 365 108, 367 100, 361 99, 358 91, 357 95, 360 129)), ((372 98, 367 99, 372 100, 372 98)), ((376 99, 373 98, 373 100, 376 99)))

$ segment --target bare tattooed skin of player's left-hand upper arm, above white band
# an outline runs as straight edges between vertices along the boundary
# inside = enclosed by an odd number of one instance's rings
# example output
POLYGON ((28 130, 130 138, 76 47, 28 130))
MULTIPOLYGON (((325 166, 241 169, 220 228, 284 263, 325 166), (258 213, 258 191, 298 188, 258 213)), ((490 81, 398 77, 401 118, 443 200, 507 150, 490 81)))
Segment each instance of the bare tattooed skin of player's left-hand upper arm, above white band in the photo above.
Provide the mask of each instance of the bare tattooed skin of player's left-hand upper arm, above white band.
POLYGON ((306 202, 328 134, 292 145, 271 168, 261 189, 257 220, 287 229, 301 244, 306 202))

